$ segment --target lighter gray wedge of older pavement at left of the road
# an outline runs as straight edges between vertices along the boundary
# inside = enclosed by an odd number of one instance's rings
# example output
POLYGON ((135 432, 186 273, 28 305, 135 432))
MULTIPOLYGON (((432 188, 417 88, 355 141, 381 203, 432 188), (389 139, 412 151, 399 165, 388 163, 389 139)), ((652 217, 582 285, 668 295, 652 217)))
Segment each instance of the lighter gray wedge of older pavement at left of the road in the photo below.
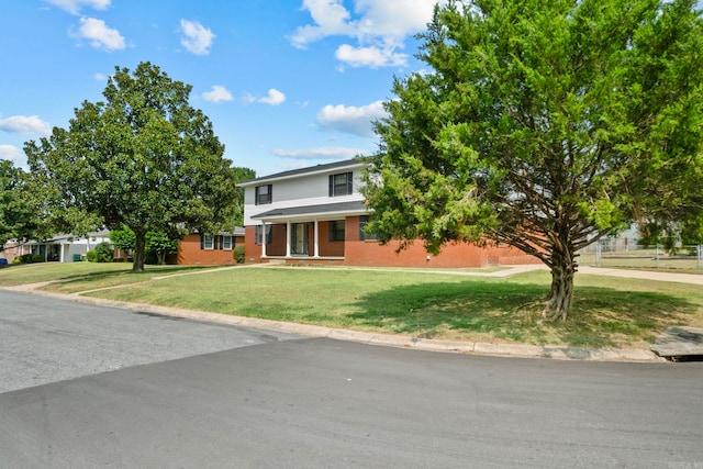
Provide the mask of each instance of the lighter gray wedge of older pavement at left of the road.
POLYGON ((291 338, 0 290, 0 392, 291 338))

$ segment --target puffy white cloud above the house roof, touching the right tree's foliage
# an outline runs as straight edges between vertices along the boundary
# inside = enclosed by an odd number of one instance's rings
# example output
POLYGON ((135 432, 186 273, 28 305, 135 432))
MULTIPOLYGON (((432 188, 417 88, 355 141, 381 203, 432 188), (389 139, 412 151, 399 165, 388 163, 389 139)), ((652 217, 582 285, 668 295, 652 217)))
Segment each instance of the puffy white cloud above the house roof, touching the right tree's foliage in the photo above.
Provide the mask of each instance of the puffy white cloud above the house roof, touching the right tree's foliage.
POLYGON ((382 101, 376 101, 360 108, 344 104, 325 105, 317 113, 317 123, 327 131, 345 132, 361 137, 372 137, 371 121, 387 114, 382 101))

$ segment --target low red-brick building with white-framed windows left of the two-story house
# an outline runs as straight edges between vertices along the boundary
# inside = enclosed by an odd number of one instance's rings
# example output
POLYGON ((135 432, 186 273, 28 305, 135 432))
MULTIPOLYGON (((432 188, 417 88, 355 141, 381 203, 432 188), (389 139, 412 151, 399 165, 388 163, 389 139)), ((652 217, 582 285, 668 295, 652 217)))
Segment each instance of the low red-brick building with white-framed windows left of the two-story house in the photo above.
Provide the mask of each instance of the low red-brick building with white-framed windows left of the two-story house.
POLYGON ((179 265, 230 265, 235 246, 244 244, 244 228, 237 226, 232 233, 192 233, 178 243, 176 264, 179 265))

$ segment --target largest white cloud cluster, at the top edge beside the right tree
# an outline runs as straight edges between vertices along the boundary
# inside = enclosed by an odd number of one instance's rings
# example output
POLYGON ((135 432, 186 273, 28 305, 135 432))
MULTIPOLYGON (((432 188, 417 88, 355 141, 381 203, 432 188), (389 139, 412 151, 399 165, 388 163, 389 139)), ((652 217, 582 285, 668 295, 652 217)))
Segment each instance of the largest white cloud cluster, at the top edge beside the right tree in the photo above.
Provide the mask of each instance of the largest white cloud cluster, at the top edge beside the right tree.
MULTIPOLYGON (((405 38, 425 30, 432 20, 436 0, 354 0, 354 15, 343 0, 303 0, 313 24, 300 26, 290 37, 293 46, 304 48, 327 36, 348 36, 357 45, 343 45, 335 54, 353 67, 402 66, 408 55, 405 38)), ((445 4, 446 0, 440 0, 445 4)))

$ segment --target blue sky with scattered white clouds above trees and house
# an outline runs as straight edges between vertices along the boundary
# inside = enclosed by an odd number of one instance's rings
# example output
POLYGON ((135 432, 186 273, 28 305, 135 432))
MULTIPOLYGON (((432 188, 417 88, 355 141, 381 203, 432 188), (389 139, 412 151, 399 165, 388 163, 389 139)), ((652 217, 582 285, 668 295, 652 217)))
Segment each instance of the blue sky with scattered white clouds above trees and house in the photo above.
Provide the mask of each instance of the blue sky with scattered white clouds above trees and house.
POLYGON ((140 62, 192 85, 225 157, 258 176, 377 148, 393 76, 435 0, 0 0, 0 158, 67 127, 140 62))

